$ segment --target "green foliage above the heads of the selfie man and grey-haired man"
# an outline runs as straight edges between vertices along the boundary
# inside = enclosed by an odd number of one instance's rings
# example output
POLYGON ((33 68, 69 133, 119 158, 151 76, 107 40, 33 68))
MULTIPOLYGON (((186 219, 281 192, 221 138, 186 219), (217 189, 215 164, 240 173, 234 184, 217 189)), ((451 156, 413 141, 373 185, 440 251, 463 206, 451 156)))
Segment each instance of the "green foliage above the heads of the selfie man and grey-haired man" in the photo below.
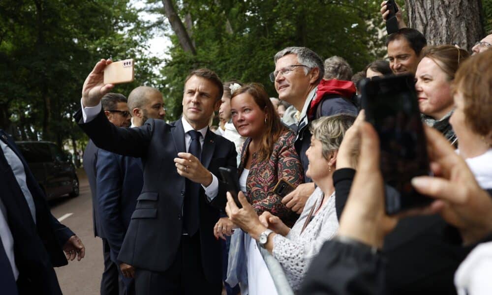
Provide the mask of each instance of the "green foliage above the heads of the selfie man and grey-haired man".
POLYGON ((191 15, 197 55, 185 54, 177 38, 171 38, 174 46, 161 70, 171 118, 181 115, 183 81, 194 68, 211 68, 223 81, 262 83, 276 96, 268 74, 275 68, 275 53, 284 47, 306 46, 322 59, 343 57, 355 71, 384 56, 376 30, 381 26, 379 1, 194 0, 175 8, 182 20, 191 15))

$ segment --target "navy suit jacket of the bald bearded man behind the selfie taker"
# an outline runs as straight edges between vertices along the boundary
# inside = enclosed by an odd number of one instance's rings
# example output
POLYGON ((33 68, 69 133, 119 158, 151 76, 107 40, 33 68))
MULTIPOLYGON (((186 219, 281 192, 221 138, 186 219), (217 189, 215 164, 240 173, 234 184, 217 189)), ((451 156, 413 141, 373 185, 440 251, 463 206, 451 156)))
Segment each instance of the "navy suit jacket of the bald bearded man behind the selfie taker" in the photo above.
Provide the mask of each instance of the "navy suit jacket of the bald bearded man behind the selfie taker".
POLYGON ((111 260, 118 264, 131 214, 144 185, 142 161, 98 149, 96 175, 99 221, 109 242, 111 260))

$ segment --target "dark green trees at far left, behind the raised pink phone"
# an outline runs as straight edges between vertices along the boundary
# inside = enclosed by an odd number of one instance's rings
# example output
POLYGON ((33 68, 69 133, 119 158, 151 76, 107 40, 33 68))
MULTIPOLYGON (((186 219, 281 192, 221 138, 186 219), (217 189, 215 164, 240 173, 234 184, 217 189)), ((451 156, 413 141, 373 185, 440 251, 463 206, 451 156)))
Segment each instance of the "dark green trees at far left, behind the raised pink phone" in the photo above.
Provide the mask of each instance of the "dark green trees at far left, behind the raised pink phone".
POLYGON ((135 82, 125 95, 156 82, 146 58, 148 24, 128 0, 0 1, 0 128, 18 139, 62 142, 82 136, 72 114, 98 59, 134 57, 135 82))

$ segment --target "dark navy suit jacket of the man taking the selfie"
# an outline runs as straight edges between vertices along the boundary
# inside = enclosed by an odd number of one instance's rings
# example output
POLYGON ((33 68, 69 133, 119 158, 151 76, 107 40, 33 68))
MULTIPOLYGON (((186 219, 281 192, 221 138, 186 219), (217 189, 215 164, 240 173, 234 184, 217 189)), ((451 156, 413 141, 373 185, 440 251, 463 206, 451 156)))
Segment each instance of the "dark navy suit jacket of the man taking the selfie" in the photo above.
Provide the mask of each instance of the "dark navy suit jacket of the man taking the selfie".
MULTIPOLYGON (((141 157, 144 186, 131 216, 119 261, 151 271, 165 271, 175 260, 183 230, 185 178, 176 171, 174 158, 185 152, 181 119, 167 124, 149 119, 138 128, 119 128, 111 124, 104 113, 83 123, 82 111, 75 119, 99 148, 115 153, 141 157)), ((202 164, 218 177, 219 167, 236 171, 234 144, 210 130, 204 139, 202 164)), ((218 193, 209 202, 203 188, 199 199, 199 235, 202 266, 209 282, 221 280, 220 243, 213 234, 219 219, 219 209, 227 202, 227 186, 219 180, 218 193)))

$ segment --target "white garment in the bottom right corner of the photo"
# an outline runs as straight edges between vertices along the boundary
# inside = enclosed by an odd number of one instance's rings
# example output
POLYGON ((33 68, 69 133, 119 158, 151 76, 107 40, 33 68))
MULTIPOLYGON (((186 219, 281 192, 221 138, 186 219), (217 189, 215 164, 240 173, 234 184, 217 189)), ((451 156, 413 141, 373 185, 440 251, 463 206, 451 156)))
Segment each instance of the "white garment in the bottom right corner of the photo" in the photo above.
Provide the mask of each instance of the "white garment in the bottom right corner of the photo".
POLYGON ((492 290, 492 242, 479 244, 455 272, 459 295, 489 295, 492 290))

